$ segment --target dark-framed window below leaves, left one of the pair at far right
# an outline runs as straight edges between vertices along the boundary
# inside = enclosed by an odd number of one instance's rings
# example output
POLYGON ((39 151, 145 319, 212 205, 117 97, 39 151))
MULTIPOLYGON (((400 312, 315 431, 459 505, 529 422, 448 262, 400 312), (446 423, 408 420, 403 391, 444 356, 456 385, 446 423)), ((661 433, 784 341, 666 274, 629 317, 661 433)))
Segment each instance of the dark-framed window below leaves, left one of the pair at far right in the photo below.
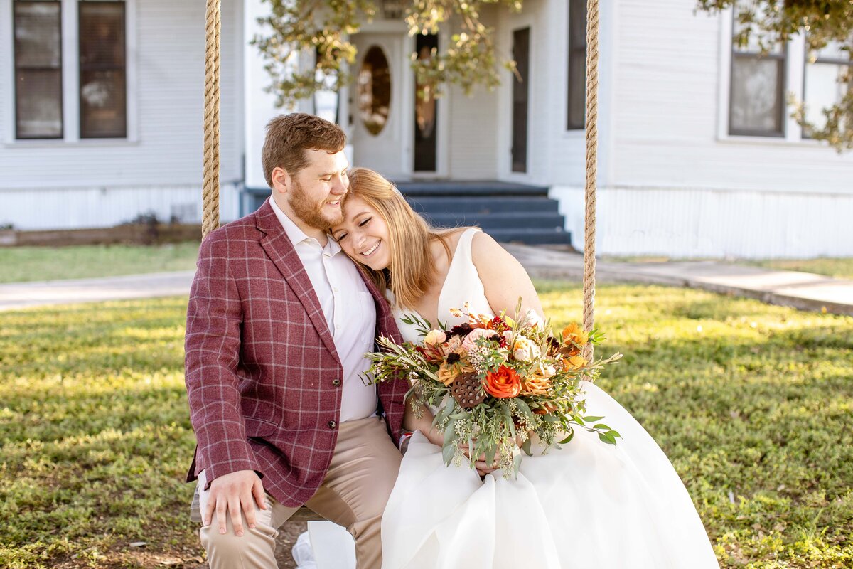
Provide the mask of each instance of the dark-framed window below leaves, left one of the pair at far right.
MULTIPOLYGON (((733 37, 740 32, 735 16, 733 37)), ((732 43, 728 134, 785 136, 786 46, 775 44, 765 53, 755 38, 749 44, 732 43)))

